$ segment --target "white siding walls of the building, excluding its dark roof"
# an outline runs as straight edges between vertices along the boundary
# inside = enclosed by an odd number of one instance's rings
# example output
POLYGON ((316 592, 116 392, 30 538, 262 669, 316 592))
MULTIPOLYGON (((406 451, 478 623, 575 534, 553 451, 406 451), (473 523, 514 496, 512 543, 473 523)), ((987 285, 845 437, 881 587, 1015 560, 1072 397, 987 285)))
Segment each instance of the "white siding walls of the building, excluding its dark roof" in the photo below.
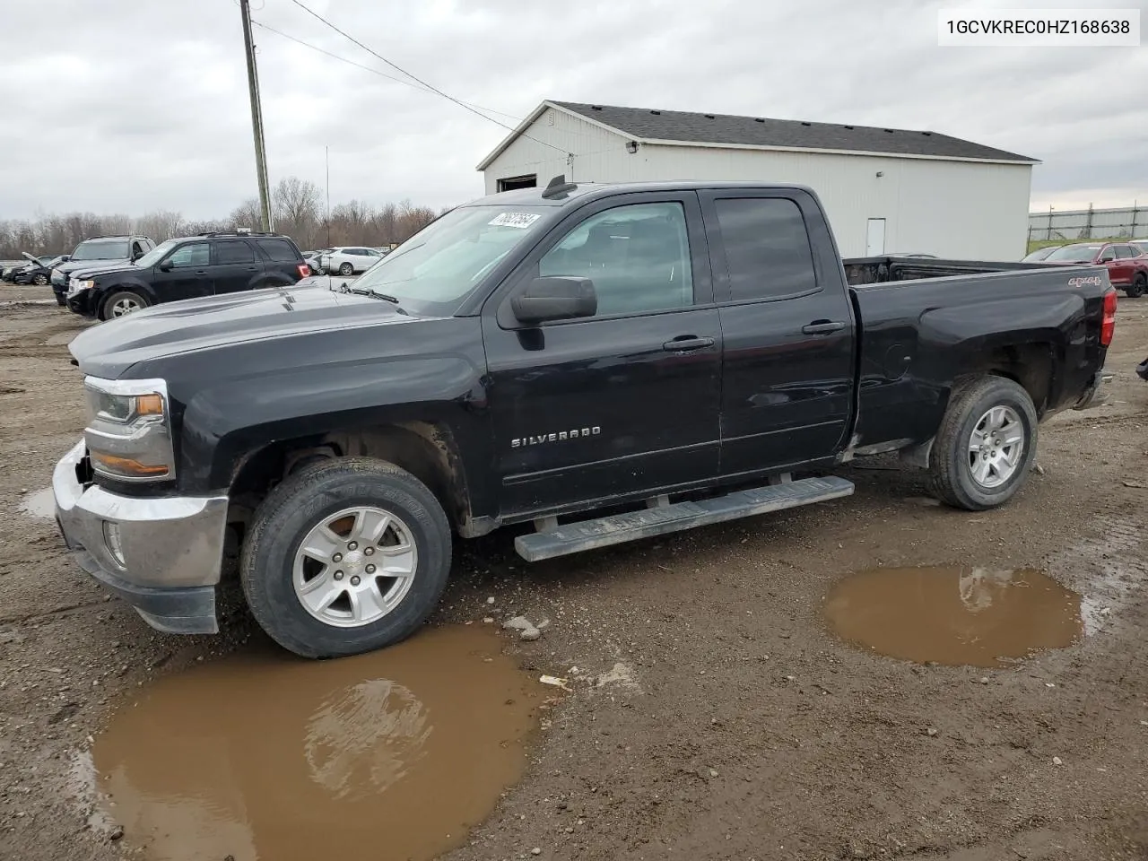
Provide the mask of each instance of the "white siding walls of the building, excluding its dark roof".
POLYGON ((498 179, 526 173, 540 185, 559 173, 598 183, 799 183, 817 192, 845 257, 864 254, 869 218, 886 219, 885 248, 902 254, 1015 261, 1029 238, 1027 164, 659 145, 630 154, 627 138, 553 108, 527 134, 559 149, 519 137, 487 168, 488 194, 498 179))

